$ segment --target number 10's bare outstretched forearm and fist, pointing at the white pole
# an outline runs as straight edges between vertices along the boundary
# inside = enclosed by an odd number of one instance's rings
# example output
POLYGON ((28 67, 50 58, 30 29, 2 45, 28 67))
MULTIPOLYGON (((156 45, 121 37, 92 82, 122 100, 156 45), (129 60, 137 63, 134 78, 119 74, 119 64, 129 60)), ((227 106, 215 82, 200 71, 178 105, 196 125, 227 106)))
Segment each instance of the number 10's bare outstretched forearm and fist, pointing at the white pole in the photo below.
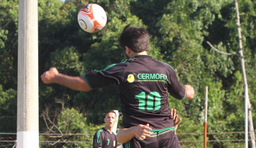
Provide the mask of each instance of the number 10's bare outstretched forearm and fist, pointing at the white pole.
POLYGON ((63 75, 59 71, 52 67, 49 71, 44 72, 41 75, 41 79, 44 84, 60 84, 71 88, 72 90, 89 91, 91 88, 86 83, 83 77, 71 77, 69 75, 63 75))

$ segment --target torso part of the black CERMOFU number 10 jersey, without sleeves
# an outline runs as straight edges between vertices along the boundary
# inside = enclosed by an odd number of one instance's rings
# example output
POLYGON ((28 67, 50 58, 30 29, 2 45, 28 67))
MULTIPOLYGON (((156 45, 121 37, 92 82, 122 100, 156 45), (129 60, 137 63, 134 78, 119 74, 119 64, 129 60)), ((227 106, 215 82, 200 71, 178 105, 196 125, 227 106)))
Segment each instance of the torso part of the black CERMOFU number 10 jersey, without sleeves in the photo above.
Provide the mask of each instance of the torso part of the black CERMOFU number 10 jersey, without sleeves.
POLYGON ((124 126, 149 123, 153 128, 172 126, 168 89, 176 73, 169 65, 151 56, 135 56, 123 72, 121 93, 124 126))

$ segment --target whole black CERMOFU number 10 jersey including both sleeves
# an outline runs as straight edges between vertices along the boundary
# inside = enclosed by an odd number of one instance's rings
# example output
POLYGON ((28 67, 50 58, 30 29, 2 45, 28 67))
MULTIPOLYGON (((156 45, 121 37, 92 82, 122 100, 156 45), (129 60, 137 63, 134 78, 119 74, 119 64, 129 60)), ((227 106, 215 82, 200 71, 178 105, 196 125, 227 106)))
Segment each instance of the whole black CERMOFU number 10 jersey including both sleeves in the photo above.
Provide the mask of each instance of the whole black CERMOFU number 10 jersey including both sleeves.
POLYGON ((91 88, 118 85, 124 128, 139 124, 150 124, 156 130, 174 126, 168 92, 178 99, 186 94, 174 69, 147 55, 111 64, 101 71, 91 70, 84 78, 91 88))

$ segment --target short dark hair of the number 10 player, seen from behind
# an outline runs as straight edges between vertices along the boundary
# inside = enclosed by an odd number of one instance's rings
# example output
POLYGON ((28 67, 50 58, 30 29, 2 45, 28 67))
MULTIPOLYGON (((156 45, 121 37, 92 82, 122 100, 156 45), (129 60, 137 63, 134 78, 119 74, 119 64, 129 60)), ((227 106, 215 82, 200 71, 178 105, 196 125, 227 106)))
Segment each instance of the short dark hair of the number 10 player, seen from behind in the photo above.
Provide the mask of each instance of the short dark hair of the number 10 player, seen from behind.
POLYGON ((149 35, 148 31, 140 27, 130 27, 131 24, 125 26, 123 32, 119 35, 118 42, 121 48, 125 46, 133 52, 144 52, 149 50, 149 35))

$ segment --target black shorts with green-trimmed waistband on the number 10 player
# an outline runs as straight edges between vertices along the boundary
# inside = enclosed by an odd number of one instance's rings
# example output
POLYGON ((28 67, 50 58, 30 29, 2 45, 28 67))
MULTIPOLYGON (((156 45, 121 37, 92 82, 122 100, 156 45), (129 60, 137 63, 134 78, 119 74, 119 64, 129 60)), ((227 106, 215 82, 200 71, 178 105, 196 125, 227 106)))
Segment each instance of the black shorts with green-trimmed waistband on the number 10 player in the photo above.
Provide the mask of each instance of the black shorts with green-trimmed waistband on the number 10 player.
POLYGON ((123 148, 180 148, 180 141, 174 129, 153 132, 144 140, 133 137, 131 141, 123 144, 123 148))

